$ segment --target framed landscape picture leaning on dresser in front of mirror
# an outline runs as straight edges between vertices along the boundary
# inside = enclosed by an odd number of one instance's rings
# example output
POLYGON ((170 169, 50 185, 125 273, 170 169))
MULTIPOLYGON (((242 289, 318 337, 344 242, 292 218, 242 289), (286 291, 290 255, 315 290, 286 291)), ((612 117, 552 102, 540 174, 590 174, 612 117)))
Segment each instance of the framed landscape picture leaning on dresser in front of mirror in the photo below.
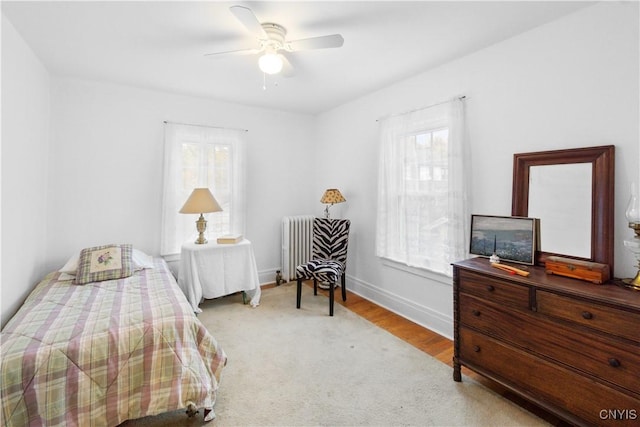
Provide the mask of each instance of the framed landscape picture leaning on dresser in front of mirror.
POLYGON ((516 216, 471 215, 472 255, 533 265, 537 249, 538 220, 516 216))

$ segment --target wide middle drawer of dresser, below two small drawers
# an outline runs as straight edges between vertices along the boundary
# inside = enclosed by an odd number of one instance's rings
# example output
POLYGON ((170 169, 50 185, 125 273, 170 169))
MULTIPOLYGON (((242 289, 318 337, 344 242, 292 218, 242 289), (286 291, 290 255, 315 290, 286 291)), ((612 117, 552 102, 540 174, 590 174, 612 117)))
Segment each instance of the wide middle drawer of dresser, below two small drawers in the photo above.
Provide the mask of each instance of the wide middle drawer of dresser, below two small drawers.
POLYGON ((460 307, 463 326, 557 360, 640 396, 638 345, 575 331, 468 295, 460 296, 460 307))

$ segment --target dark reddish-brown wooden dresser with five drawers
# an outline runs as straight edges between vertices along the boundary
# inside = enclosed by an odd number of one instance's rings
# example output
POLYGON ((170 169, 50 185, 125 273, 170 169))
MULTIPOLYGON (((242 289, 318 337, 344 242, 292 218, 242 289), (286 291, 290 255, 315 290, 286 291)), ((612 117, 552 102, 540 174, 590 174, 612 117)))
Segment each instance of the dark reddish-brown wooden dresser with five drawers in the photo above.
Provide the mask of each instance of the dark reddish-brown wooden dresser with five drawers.
POLYGON ((640 292, 453 266, 455 381, 464 365, 571 424, 640 425, 640 292))

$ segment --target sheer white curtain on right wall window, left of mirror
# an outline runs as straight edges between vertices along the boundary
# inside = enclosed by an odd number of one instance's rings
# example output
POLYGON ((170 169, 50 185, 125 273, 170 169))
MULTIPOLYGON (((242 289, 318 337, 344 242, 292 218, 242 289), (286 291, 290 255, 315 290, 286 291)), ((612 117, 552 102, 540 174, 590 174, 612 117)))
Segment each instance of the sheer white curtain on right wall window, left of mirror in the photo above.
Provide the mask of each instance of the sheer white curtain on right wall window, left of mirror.
POLYGON ((464 101, 388 117, 380 131, 376 254, 450 276, 469 250, 464 101), (425 138, 448 141, 443 159, 425 138))

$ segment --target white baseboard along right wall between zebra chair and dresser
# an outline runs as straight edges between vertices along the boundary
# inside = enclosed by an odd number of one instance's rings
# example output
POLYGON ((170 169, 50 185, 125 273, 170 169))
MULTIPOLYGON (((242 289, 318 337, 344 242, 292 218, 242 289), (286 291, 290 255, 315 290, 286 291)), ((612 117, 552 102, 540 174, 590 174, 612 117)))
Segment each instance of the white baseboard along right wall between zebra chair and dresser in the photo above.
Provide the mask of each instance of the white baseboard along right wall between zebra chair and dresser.
POLYGON ((347 274, 347 289, 443 337, 453 339, 453 318, 347 274))

